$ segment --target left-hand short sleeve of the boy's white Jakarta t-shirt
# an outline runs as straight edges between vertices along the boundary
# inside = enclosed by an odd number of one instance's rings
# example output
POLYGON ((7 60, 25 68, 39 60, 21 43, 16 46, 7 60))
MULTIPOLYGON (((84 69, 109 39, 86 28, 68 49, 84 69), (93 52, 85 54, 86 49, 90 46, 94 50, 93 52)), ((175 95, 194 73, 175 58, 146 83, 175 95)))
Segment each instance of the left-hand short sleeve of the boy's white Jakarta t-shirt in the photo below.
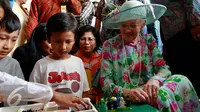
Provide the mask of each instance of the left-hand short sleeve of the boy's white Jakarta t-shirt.
POLYGON ((31 72, 29 81, 30 82, 42 83, 41 74, 42 74, 42 72, 41 72, 40 64, 37 61, 34 68, 33 68, 33 71, 31 72))

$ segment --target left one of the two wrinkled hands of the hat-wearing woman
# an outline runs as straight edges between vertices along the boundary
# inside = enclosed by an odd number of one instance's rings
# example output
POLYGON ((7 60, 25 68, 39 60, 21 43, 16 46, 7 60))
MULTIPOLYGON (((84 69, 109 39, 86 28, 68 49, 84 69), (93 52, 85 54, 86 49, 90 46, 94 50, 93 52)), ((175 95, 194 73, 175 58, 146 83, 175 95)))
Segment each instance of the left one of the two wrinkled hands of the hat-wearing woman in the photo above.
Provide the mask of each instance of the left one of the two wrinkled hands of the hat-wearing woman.
POLYGON ((147 93, 141 88, 125 89, 124 93, 133 103, 146 103, 149 99, 147 93))

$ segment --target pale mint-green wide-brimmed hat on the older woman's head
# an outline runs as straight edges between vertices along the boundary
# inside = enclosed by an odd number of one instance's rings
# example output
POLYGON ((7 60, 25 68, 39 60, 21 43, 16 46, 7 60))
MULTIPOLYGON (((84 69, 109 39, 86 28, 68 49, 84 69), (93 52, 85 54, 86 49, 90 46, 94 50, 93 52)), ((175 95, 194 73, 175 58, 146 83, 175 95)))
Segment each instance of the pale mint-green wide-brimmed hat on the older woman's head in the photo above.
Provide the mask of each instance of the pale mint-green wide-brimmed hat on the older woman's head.
POLYGON ((135 19, 144 19, 146 24, 150 24, 158 20, 166 10, 167 8, 160 4, 143 4, 137 0, 127 1, 113 11, 112 15, 103 21, 103 25, 108 29, 119 29, 121 22, 135 19))

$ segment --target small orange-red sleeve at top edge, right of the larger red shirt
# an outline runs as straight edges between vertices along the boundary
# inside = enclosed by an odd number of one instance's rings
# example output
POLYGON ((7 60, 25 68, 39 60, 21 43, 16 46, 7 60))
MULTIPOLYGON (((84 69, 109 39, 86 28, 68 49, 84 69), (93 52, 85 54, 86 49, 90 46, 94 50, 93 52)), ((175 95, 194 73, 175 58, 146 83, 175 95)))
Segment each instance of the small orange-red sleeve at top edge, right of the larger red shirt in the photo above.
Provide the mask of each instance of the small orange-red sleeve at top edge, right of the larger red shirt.
POLYGON ((82 6, 80 0, 68 0, 68 7, 68 10, 73 14, 81 14, 82 6))

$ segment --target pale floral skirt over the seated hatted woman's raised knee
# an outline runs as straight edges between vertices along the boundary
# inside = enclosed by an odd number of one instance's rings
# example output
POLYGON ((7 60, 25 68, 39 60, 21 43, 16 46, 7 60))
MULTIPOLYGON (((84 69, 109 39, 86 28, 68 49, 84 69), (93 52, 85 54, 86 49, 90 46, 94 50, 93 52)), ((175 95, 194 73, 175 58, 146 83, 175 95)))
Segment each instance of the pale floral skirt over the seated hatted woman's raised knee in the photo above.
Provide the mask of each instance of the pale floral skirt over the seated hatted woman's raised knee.
POLYGON ((158 104, 164 112, 200 112, 198 96, 182 75, 173 75, 164 82, 158 91, 158 104))

